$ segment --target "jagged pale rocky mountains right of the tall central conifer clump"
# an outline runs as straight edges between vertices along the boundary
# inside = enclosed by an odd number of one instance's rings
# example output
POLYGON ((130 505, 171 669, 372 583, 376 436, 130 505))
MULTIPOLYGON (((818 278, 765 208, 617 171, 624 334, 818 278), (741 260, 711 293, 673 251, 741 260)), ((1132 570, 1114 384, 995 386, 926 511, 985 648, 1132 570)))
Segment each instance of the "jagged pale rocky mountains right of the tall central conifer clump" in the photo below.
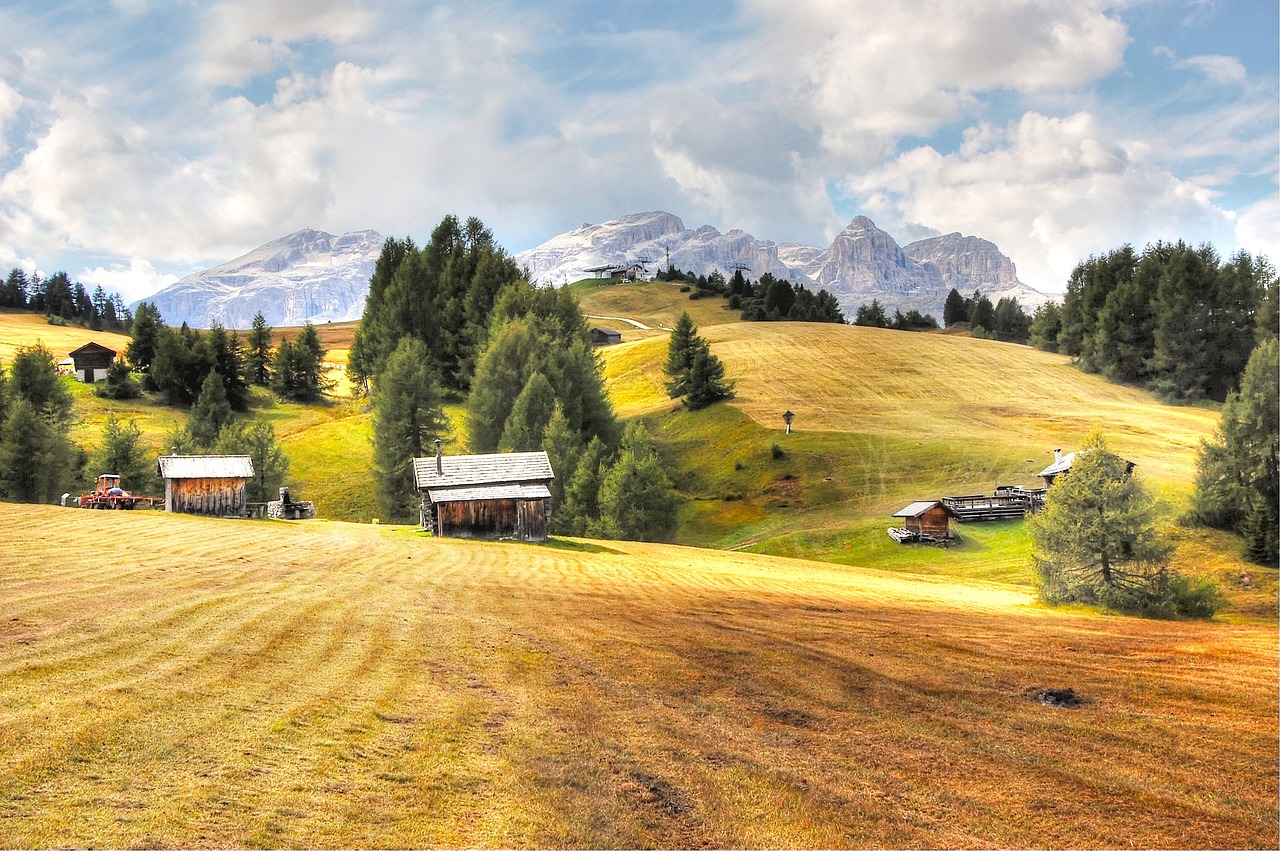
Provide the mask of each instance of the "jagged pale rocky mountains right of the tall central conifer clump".
POLYGON ((756 239, 742 230, 710 225, 689 229, 669 212, 637 212, 603 224, 584 224, 520 252, 535 283, 561 285, 589 278, 588 270, 641 261, 650 271, 668 262, 685 271, 724 275, 750 269, 826 289, 852 317, 859 305, 878 299, 886 310, 919 310, 942 317, 947 293, 980 289, 993 302, 1005 296, 1034 308, 1048 299, 1018 280, 1012 261, 995 243, 959 233, 900 247, 867 216, 858 216, 827 248, 756 239))

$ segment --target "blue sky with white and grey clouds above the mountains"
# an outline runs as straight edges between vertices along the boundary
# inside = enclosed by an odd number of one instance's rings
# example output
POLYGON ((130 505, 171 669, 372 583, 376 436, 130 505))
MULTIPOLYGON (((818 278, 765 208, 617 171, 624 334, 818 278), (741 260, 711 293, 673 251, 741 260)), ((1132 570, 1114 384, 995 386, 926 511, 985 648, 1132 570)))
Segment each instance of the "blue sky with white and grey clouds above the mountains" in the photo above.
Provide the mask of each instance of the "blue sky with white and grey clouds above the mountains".
POLYGON ((1275 0, 5 0, 0 270, 125 301, 302 228, 1280 261, 1275 0))

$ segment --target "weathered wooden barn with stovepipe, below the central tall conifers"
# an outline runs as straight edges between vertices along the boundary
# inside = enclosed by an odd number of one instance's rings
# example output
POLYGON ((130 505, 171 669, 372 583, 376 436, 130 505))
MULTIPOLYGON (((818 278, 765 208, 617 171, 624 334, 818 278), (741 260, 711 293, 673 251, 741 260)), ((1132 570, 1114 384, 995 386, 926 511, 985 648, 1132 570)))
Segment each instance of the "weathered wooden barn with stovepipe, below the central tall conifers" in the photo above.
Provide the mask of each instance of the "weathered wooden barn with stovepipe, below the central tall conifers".
POLYGON ((545 452, 413 458, 422 527, 442 537, 547 540, 554 477, 545 452))

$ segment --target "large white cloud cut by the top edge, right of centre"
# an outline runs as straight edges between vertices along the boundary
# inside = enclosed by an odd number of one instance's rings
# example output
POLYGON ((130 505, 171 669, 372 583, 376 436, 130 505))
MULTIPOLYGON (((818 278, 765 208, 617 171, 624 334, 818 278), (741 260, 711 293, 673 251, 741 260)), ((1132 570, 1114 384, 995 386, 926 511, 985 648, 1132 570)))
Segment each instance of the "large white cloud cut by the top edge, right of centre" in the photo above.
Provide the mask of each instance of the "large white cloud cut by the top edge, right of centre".
POLYGON ((927 136, 992 91, 1060 91, 1115 70, 1126 29, 1115 4, 957 0, 758 0, 759 50, 831 151, 869 161, 884 139, 927 136))

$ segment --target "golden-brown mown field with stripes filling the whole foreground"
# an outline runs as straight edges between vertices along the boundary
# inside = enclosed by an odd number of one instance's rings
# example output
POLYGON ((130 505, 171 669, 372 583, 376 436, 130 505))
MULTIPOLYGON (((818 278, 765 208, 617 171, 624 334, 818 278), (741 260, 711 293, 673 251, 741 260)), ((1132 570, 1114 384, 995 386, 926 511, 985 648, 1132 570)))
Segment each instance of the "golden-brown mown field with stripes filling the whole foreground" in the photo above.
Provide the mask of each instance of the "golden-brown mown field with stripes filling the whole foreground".
POLYGON ((1274 624, 334 522, 0 539, 3 846, 1277 842, 1274 624))

